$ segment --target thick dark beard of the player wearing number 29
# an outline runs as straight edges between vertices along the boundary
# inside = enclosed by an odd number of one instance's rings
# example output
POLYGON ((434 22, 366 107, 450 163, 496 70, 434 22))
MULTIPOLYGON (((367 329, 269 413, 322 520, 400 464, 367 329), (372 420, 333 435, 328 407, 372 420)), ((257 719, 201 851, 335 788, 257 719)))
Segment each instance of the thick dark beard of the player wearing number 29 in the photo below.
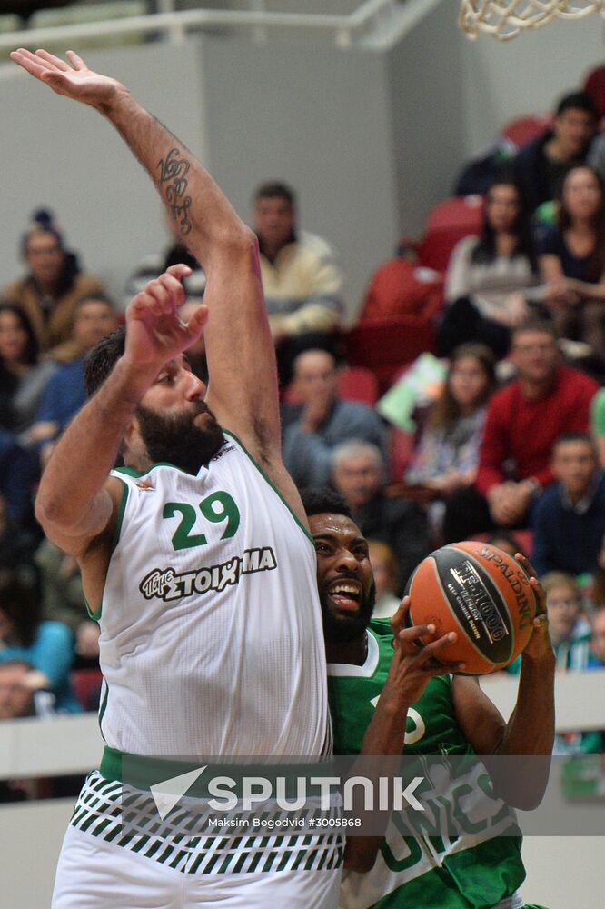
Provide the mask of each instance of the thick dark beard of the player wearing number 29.
POLYGON ((139 433, 150 460, 157 464, 167 461, 186 474, 197 474, 206 466, 225 441, 223 430, 212 411, 201 405, 189 414, 158 414, 141 405, 136 410, 139 433), (199 414, 208 414, 206 426, 194 424, 199 414))

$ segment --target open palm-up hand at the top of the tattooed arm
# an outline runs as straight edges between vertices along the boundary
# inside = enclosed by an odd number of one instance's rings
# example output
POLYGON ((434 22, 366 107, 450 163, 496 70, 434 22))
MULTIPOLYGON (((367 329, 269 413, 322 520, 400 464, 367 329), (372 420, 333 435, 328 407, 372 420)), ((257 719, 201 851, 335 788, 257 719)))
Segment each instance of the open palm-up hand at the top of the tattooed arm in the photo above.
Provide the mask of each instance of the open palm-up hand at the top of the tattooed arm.
POLYGON ((81 101, 102 113, 115 95, 120 92, 127 94, 124 85, 117 79, 94 73, 74 51, 67 51, 66 56, 69 63, 45 50, 33 53, 20 47, 11 54, 16 64, 40 82, 45 82, 57 95, 81 101))

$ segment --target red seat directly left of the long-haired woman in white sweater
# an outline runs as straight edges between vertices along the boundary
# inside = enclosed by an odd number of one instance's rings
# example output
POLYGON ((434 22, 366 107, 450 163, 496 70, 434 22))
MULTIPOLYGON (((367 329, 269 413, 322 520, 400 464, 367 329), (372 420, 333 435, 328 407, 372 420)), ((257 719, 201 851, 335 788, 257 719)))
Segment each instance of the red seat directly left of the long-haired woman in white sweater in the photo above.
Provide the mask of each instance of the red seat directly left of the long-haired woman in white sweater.
POLYGON ((482 219, 481 195, 453 196, 435 205, 427 219, 424 237, 416 246, 421 264, 444 272, 458 241, 481 233, 482 219))

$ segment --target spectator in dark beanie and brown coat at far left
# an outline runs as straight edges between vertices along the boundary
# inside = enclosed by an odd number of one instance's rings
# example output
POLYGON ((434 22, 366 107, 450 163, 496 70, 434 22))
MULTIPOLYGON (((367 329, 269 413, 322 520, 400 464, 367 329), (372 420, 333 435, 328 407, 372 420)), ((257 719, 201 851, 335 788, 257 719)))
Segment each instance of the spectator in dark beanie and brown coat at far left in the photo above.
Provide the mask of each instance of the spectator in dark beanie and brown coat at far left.
POLYGON ((24 310, 41 349, 47 351, 69 338, 78 301, 103 295, 103 285, 80 272, 49 212, 35 212, 22 240, 22 253, 27 273, 5 287, 2 297, 24 310))

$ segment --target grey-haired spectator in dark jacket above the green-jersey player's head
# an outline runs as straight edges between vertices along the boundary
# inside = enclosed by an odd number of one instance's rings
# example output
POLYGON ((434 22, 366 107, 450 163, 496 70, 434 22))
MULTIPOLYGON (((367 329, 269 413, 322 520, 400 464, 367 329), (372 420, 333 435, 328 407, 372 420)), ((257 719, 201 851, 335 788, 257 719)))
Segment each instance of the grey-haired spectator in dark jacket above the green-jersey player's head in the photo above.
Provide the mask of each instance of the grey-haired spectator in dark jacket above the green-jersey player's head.
POLYGON ((376 445, 352 439, 334 448, 332 482, 364 536, 392 548, 402 592, 416 565, 431 552, 431 535, 419 504, 384 494, 384 476, 384 457, 376 445))

